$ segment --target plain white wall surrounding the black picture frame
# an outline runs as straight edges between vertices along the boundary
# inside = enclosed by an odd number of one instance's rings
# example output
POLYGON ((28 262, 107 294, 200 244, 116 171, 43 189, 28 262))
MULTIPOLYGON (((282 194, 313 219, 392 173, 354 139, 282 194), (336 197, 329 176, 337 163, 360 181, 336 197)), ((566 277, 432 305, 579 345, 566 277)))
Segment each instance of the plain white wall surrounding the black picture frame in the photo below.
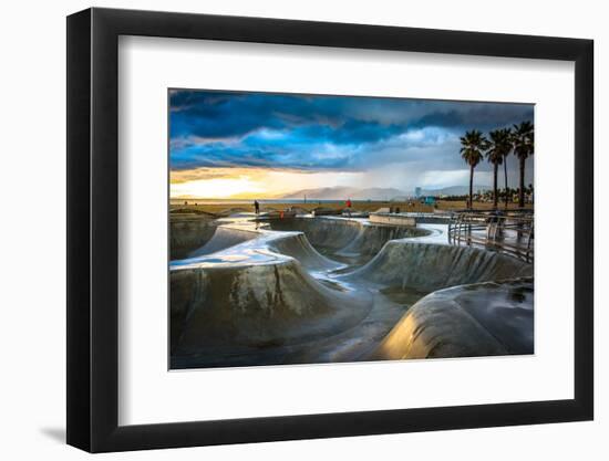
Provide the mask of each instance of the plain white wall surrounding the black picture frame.
MULTIPOLYGON (((99 7, 176 10, 240 15, 311 19, 462 29, 489 32, 591 38, 596 41, 596 177, 597 217, 609 200, 600 171, 609 168, 606 122, 609 101, 599 87, 607 78, 609 29, 602 2, 531 2, 442 0, 434 2, 308 0, 142 0, 103 1, 99 7), (602 106, 601 106, 602 104, 602 106), (602 111, 602 113, 601 113, 602 111), (602 146, 601 146, 602 143, 602 146)), ((0 425, 4 459, 80 459, 65 447, 64 304, 65 304, 65 19, 87 8, 86 1, 4 2, 0 33, 2 283, 0 322, 2 380, 0 425)), ((605 176, 605 175, 602 175, 605 176)), ((607 224, 597 218, 597 234, 607 224)), ((607 279, 608 244, 597 239, 597 286, 607 279)), ((111 459, 412 459, 515 460, 607 459, 609 448, 608 336, 603 308, 608 296, 597 293, 597 420, 585 423, 362 437, 322 441, 265 443, 187 450, 112 454, 111 459), (605 436, 605 437, 603 437, 605 436)))

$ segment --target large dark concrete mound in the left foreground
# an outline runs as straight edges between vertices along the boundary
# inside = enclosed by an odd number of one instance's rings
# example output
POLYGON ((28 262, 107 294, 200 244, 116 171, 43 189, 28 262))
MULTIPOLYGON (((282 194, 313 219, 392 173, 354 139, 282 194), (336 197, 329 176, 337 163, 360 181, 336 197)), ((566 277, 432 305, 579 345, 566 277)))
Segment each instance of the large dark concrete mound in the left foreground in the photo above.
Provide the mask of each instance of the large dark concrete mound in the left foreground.
POLYGON ((292 346, 357 325, 371 306, 365 292, 330 290, 293 259, 183 269, 171 274, 172 352, 292 346))

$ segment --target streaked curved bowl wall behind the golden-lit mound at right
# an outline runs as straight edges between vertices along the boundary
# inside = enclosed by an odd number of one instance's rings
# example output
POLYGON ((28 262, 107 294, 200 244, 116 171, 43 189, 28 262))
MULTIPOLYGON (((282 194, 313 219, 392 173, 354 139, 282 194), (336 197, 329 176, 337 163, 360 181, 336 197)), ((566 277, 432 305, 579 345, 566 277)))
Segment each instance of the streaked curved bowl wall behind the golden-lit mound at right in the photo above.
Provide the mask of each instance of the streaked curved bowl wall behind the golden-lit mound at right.
POLYGON ((447 286, 533 275, 533 265, 472 247, 392 240, 362 268, 341 277, 433 292, 447 286))

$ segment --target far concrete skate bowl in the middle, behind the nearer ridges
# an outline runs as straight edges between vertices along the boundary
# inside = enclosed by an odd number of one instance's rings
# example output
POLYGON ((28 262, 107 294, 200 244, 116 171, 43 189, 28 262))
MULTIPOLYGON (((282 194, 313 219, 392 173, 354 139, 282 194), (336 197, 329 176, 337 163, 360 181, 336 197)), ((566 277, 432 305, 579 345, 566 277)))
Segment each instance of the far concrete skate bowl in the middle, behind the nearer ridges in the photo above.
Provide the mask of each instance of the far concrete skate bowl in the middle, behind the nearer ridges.
POLYGON ((300 231, 321 254, 351 266, 371 260, 383 245, 395 239, 419 238, 429 230, 371 224, 363 220, 341 218, 291 218, 269 220, 276 231, 300 231))

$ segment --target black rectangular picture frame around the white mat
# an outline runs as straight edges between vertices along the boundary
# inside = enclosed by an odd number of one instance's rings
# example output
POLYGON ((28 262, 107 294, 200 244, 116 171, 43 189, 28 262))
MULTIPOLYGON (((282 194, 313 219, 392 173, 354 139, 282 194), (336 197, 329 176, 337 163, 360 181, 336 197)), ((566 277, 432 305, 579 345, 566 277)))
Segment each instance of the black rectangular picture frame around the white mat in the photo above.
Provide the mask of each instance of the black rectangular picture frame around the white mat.
POLYGON ((592 419, 592 50, 591 40, 396 27, 97 8, 70 15, 68 443, 104 452, 592 419), (120 35, 575 62, 574 399, 118 426, 120 35))

